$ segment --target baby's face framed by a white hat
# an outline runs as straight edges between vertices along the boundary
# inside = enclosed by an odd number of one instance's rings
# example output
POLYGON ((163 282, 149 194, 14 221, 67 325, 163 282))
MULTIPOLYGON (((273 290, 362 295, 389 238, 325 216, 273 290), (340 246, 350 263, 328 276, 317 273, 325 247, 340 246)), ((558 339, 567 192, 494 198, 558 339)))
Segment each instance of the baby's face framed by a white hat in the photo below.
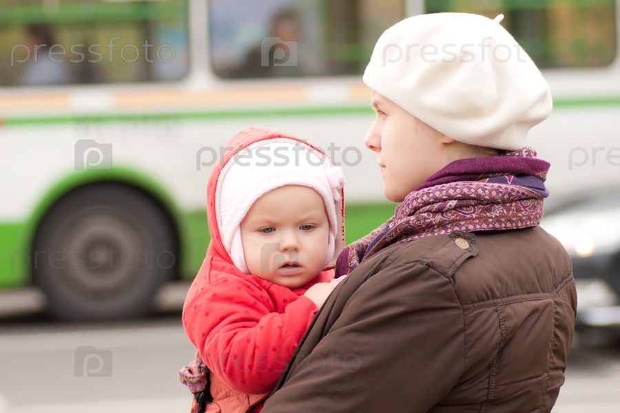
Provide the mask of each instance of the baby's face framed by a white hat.
POLYGON ((314 189, 287 185, 262 195, 241 222, 249 272, 280 286, 311 281, 327 262, 329 219, 314 189))

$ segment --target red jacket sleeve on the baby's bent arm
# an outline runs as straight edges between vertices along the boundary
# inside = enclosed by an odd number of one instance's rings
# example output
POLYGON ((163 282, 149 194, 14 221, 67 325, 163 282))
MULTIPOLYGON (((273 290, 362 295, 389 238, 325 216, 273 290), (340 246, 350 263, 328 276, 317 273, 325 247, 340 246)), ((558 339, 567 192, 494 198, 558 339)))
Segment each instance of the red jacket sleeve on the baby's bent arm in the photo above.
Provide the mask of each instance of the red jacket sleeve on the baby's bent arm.
POLYGON ((275 313, 265 290, 238 277, 200 288, 185 302, 183 324, 209 369, 230 388, 262 394, 273 386, 318 308, 307 297, 275 313))

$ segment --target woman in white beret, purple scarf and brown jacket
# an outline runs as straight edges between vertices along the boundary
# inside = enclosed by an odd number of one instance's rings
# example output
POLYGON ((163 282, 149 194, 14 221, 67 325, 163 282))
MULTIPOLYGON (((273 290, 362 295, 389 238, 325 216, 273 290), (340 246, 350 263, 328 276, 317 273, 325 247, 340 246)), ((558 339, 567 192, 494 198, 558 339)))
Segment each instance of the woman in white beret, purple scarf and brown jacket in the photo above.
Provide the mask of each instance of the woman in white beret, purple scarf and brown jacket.
POLYGON ((539 228, 549 164, 526 147, 551 112, 539 70, 495 20, 405 19, 364 72, 395 215, 338 258, 263 413, 550 412, 577 297, 539 228))

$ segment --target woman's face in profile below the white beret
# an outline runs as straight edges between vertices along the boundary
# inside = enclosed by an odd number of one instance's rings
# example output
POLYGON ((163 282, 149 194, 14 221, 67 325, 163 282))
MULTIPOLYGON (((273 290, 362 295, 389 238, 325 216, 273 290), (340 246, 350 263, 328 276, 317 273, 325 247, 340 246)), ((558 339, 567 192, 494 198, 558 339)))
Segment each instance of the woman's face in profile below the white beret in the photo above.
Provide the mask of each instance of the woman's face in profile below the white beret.
POLYGON ((401 202, 448 165, 448 147, 455 140, 374 91, 371 106, 376 116, 364 145, 377 153, 385 197, 401 202))

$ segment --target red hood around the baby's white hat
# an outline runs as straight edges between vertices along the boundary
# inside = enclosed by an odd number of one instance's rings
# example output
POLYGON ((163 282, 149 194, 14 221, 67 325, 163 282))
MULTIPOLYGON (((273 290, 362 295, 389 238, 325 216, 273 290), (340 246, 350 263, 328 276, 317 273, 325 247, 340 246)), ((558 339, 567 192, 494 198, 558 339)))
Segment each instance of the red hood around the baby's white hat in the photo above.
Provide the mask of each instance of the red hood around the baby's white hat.
MULTIPOLYGON (((227 149, 228 148, 230 149, 228 151, 225 151, 224 158, 218 159, 218 161, 215 163, 215 165, 211 169, 211 173, 209 173, 209 181, 207 182, 207 222, 209 223, 209 231, 211 233, 211 245, 210 245, 209 250, 211 251, 215 250, 216 253, 220 257, 223 258, 223 260, 226 260, 230 264, 233 264, 233 262, 230 256, 228 255, 228 253, 226 252, 226 248, 224 247, 224 244, 222 242, 222 237, 220 235, 220 229, 218 227, 218 219, 216 216, 216 191, 217 191, 217 185, 218 185, 218 181, 220 178, 220 174, 222 173, 222 170, 224 166, 227 164, 227 162, 240 149, 244 147, 248 147, 249 145, 252 145, 255 142, 259 142, 261 140, 274 140, 274 139, 282 139, 282 138, 304 142, 303 140, 301 140, 300 138, 297 138, 296 136, 285 134, 280 131, 274 131, 271 129, 262 129, 262 128, 256 128, 256 127, 248 127, 246 129, 242 129, 241 131, 238 132, 238 134, 236 134, 235 136, 231 138, 231 140, 226 145, 227 149)), ((324 153, 323 151, 318 149, 318 147, 315 147, 309 144, 308 142, 304 142, 304 145, 307 145, 315 149, 316 151, 319 151, 320 153, 324 153)), ((326 159, 328 160, 328 162, 331 162, 331 160, 329 160, 329 157, 327 156, 327 153, 325 153, 324 155, 326 159)), ((340 211, 339 211, 340 220, 341 220, 340 225, 339 225, 340 240, 338 240, 338 237, 335 240, 335 251, 334 251, 334 257, 333 257, 332 262, 335 262, 336 258, 338 258, 338 255, 344 248, 344 189, 342 189, 340 195, 341 195, 341 200, 342 200, 342 202, 340 202, 340 211)), ((333 266, 330 266, 329 268, 333 268, 333 266)))

